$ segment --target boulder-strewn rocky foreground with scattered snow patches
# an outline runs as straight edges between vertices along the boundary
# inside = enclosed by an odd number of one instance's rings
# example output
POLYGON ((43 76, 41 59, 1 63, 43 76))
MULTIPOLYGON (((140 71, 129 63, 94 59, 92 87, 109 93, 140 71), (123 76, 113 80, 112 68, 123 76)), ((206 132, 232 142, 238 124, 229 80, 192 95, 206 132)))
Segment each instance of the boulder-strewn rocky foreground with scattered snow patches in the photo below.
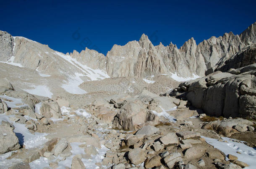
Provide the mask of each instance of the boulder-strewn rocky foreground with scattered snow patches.
MULTIPOLYGON (((105 81, 98 84, 122 82, 105 81)), ((133 81, 127 79, 128 84, 133 81)), ((84 97, 73 95, 83 99, 76 104, 63 97, 49 99, 14 90, 2 79, 0 92, 3 169, 252 169, 256 165, 255 121, 206 116, 185 98, 161 95, 163 91, 143 88, 135 93, 104 91, 104 95, 92 91, 84 97)))

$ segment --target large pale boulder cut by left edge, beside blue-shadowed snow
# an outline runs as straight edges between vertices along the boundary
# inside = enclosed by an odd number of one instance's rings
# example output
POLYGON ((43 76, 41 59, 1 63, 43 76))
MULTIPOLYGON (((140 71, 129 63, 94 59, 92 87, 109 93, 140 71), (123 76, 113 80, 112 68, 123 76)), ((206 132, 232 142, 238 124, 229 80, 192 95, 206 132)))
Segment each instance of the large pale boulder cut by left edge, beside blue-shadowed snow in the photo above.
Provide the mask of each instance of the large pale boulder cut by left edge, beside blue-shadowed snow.
POLYGON ((0 125, 0 154, 19 149, 18 137, 13 132, 14 126, 6 121, 0 125))

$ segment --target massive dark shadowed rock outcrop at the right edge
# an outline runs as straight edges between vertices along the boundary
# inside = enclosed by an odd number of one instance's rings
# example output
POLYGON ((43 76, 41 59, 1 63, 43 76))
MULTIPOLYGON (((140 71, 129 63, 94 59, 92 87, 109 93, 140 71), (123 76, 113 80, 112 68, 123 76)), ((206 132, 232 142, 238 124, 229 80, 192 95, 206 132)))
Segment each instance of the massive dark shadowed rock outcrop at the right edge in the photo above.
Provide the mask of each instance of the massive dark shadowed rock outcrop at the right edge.
MULTIPOLYGON (((209 116, 256 119, 255 74, 256 64, 252 64, 230 73, 216 71, 204 78, 181 83, 180 87, 185 86, 188 101, 209 116)), ((176 90, 171 95, 177 95, 176 90)))

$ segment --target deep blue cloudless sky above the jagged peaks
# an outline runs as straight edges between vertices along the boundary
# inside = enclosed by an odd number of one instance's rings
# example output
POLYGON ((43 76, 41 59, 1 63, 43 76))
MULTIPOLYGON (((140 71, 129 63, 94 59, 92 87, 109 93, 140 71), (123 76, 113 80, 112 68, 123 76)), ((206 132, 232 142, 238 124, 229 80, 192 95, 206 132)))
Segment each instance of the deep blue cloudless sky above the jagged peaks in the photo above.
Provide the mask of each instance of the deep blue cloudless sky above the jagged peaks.
POLYGON ((178 47, 191 37, 198 44, 225 32, 240 34, 256 22, 255 9, 255 0, 1 0, 0 30, 63 53, 88 47, 106 54, 143 33, 154 45, 172 41, 178 47))

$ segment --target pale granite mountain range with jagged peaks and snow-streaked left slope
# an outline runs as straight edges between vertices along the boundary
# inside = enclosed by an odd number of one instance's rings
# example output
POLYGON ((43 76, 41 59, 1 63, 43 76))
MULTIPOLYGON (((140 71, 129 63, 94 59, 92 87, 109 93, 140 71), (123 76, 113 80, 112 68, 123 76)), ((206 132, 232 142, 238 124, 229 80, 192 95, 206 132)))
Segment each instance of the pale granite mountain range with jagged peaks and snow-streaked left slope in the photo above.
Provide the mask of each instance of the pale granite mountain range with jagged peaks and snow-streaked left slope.
POLYGON ((173 43, 154 46, 143 34, 139 41, 113 45, 104 56, 88 48, 80 53, 74 50, 63 54, 48 45, 0 31, 0 71, 2 78, 9 78, 18 88, 33 94, 83 94, 86 91, 78 86, 84 81, 161 75, 185 81, 203 77, 216 69, 227 71, 227 68, 247 66, 255 63, 248 56, 254 51, 255 43, 256 23, 253 23, 240 35, 230 32, 218 38, 212 36, 198 45, 191 38, 180 48, 173 43), (240 53, 247 58, 242 64, 238 64, 241 63, 240 53), (227 63, 229 61, 233 67, 227 63), (229 66, 221 68, 226 64, 229 66))

